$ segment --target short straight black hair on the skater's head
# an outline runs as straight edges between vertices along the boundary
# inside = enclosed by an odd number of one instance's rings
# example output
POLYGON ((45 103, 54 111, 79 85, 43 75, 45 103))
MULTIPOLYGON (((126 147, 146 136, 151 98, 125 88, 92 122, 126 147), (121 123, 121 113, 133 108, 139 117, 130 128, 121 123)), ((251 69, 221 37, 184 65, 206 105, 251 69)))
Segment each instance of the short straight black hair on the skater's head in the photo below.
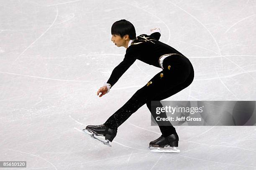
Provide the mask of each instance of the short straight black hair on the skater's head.
POLYGON ((119 20, 113 23, 111 27, 111 34, 120 35, 120 37, 128 34, 131 40, 136 38, 135 28, 133 24, 127 20, 119 20))

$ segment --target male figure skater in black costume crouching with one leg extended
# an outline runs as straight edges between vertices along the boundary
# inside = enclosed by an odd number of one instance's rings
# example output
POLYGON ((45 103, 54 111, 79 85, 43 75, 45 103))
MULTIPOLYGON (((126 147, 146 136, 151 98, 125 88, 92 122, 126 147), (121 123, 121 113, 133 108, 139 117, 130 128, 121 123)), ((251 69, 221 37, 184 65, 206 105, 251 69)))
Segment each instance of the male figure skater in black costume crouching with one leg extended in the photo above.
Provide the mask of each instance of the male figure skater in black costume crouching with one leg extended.
MULTIPOLYGON (((151 29, 151 35, 142 34, 136 37, 136 31, 132 23, 127 20, 119 20, 113 23, 111 28, 111 41, 117 47, 125 47, 126 53, 122 62, 116 66, 107 83, 100 87, 97 95, 102 97, 110 91, 123 73, 135 62, 136 59, 149 65, 162 68, 149 82, 139 89, 119 110, 117 110, 103 125, 88 125, 86 130, 97 136, 105 136, 105 140, 112 142, 118 127, 125 122, 136 110, 144 104, 149 111, 156 107, 163 107, 160 100, 166 99, 188 87, 194 79, 194 70, 191 62, 173 47, 159 41, 160 29, 151 29), (159 101, 151 106, 151 100, 159 101), (154 107, 154 108, 153 108, 154 107)), ((156 113, 151 112, 156 120, 156 113)), ((166 114, 160 115, 166 117, 166 114)), ((166 146, 178 147, 179 137, 170 122, 160 125, 157 122, 162 135, 149 143, 152 147, 166 146)))

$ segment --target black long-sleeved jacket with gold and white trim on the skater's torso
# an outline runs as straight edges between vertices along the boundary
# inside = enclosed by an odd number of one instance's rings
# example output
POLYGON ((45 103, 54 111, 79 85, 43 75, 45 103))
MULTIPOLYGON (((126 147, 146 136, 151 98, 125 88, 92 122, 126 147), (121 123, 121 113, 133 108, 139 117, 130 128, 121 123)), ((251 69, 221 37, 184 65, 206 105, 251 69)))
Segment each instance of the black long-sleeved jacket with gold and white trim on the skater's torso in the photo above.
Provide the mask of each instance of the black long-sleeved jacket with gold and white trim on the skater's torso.
POLYGON ((165 54, 179 54, 179 51, 173 47, 159 41, 161 34, 154 32, 151 35, 141 34, 134 39, 131 45, 126 49, 125 57, 118 66, 114 68, 108 82, 111 87, 118 81, 123 73, 135 62, 141 60, 149 65, 161 68, 159 57, 165 54))

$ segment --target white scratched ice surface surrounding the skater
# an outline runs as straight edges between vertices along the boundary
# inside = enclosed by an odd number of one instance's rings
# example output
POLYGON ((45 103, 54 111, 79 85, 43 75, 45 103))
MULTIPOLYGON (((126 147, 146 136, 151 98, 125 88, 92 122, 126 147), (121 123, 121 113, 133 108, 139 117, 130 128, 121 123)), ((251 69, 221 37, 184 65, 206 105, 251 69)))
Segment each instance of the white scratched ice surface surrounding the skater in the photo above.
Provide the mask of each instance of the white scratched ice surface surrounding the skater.
MULTIPOLYGON (((111 25, 160 41, 195 69, 166 100, 256 100, 255 0, 0 1, 0 161, 8 170, 254 170, 256 127, 179 126, 180 153, 152 153, 160 131, 146 105, 118 129, 113 147, 79 130, 102 124, 161 69, 136 61, 110 93, 97 89, 123 60, 111 25)), ((0 168, 3 169, 3 168, 0 168)))

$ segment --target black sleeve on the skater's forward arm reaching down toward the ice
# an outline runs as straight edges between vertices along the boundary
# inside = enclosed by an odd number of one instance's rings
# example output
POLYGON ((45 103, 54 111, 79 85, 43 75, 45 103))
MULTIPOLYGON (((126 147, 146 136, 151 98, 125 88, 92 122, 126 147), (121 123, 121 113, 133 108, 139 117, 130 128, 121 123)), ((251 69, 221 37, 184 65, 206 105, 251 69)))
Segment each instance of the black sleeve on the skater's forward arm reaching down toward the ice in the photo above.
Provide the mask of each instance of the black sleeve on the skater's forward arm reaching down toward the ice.
POLYGON ((136 57, 130 56, 130 52, 125 54, 125 58, 118 66, 114 68, 112 71, 110 78, 108 79, 108 82, 111 85, 111 88, 113 85, 119 80, 119 78, 123 75, 123 73, 128 70, 128 68, 135 62, 136 57))

